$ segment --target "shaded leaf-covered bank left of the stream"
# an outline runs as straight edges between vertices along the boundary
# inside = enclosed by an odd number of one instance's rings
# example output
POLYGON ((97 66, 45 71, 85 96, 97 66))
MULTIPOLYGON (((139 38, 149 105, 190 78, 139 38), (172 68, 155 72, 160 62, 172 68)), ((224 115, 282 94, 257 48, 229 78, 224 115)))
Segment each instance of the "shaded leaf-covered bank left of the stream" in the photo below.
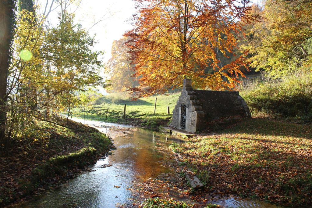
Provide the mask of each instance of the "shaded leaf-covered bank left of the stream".
POLYGON ((76 176, 113 147, 110 138, 95 128, 57 122, 72 129, 38 121, 17 136, 8 155, 0 157, 0 206, 76 176))

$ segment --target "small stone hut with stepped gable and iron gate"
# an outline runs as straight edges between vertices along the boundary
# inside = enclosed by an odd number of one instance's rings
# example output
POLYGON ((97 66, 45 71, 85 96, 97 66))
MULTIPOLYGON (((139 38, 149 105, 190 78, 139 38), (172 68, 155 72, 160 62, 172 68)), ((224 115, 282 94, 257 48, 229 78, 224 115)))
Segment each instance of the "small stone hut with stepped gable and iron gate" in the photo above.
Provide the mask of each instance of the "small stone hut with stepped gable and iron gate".
POLYGON ((230 117, 251 117, 238 92, 194 90, 192 80, 184 79, 170 126, 195 133, 204 129, 209 121, 230 117))

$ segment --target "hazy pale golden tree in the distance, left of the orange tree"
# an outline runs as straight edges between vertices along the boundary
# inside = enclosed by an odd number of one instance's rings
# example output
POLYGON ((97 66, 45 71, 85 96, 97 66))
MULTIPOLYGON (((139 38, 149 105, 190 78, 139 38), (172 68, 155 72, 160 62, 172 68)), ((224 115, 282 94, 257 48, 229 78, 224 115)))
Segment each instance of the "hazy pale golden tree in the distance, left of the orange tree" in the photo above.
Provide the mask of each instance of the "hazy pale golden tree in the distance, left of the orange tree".
POLYGON ((106 73, 109 74, 111 86, 108 88, 109 91, 113 92, 124 92, 126 86, 136 87, 138 83, 133 77, 133 67, 129 60, 130 54, 128 51, 130 48, 125 45, 129 39, 123 37, 118 41, 115 40, 112 44, 111 58, 107 62, 106 73))

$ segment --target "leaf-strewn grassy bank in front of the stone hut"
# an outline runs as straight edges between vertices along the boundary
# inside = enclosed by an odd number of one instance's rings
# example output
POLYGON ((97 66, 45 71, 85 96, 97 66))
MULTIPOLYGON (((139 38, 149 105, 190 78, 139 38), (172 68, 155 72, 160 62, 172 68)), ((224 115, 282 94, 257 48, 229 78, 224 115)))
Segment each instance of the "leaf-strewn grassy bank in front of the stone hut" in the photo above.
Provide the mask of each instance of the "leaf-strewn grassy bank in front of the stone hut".
POLYGON ((210 192, 290 206, 312 203, 311 125, 246 119, 171 147, 210 192))

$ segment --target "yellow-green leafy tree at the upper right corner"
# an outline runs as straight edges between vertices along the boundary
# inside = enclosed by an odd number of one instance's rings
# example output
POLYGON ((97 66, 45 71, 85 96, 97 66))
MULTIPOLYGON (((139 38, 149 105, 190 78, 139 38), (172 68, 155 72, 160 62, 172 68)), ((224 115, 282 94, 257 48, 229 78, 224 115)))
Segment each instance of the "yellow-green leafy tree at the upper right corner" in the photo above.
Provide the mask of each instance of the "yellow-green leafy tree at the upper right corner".
POLYGON ((311 64, 312 2, 266 0, 246 49, 251 66, 282 77, 311 64))

